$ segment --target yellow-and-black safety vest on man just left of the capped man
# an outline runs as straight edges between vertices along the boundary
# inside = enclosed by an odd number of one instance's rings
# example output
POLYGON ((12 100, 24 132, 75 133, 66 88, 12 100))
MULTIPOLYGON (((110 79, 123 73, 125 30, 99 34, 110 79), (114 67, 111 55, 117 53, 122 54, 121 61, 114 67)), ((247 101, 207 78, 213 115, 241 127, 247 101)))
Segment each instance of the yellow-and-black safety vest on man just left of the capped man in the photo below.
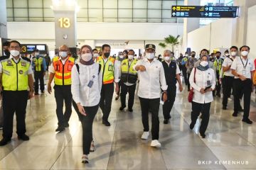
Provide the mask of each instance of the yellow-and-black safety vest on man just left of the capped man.
POLYGON ((133 69, 137 60, 132 60, 131 65, 129 65, 129 60, 125 59, 121 62, 121 81, 123 83, 135 84, 137 81, 137 72, 133 69))

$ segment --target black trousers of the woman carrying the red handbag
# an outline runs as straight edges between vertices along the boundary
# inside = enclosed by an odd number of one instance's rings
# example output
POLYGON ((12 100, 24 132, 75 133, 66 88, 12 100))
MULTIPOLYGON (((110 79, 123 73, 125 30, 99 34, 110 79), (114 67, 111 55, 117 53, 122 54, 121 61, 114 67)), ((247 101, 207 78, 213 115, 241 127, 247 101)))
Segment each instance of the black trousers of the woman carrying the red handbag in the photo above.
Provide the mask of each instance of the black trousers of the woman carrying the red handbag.
POLYGON ((199 132, 205 133, 206 129, 208 127, 209 118, 210 118, 210 103, 196 103, 192 102, 192 112, 191 112, 191 121, 192 124, 196 123, 196 120, 198 119, 198 115, 202 113, 201 118, 201 125, 199 132))

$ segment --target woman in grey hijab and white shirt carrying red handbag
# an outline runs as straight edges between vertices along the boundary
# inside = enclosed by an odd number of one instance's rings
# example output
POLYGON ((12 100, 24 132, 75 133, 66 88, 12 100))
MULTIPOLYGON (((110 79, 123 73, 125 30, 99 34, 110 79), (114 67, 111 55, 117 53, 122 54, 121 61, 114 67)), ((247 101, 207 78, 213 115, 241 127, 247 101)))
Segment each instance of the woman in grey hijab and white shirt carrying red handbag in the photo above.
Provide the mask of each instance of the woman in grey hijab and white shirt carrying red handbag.
POLYGON ((215 73, 209 68, 208 57, 201 57, 201 62, 198 67, 193 68, 189 83, 193 87, 193 101, 191 112, 191 130, 196 124, 198 115, 202 113, 201 126, 199 133, 202 138, 206 137, 206 129, 210 118, 210 103, 213 101, 212 91, 215 89, 215 73))

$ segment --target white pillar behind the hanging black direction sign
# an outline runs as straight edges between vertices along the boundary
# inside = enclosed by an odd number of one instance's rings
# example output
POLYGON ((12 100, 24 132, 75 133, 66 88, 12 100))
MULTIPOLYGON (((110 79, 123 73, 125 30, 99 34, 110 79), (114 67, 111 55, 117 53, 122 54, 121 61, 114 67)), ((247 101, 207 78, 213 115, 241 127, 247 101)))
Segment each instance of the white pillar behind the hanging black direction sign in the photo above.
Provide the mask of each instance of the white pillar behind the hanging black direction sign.
MULTIPOLYGON (((200 0, 184 1, 184 6, 200 6, 200 0)), ((188 45, 188 33, 200 28, 200 18, 184 18, 183 24, 183 52, 186 52, 188 45)), ((191 49, 193 50, 193 49, 191 49)))

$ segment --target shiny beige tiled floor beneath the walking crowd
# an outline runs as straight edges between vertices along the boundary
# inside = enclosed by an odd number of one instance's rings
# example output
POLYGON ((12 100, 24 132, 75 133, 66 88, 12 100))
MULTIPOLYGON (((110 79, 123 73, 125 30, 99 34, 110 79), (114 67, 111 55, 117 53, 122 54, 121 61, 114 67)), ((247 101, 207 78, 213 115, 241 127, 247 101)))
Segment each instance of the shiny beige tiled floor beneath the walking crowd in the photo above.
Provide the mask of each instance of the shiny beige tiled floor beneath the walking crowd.
MULTIPOLYGON (((110 128, 102 125, 101 111, 95 117, 96 151, 86 165, 81 164, 78 115, 73 111, 70 128, 56 134, 53 94, 35 96, 28 102, 26 118, 31 140, 18 141, 14 133, 11 144, 0 147, 0 169, 256 169, 256 123, 242 123, 241 115, 233 118, 233 111, 222 111, 222 100, 215 98, 207 138, 202 140, 198 136, 200 120, 195 130, 188 128, 191 103, 187 95, 186 90, 178 92, 169 125, 163 124, 159 111, 161 149, 151 148, 150 140, 140 140, 143 128, 138 98, 133 113, 119 111, 120 101, 113 101, 110 128)), ((233 108, 233 102, 228 108, 233 108)), ((250 118, 256 120, 254 102, 251 111, 250 118)))

